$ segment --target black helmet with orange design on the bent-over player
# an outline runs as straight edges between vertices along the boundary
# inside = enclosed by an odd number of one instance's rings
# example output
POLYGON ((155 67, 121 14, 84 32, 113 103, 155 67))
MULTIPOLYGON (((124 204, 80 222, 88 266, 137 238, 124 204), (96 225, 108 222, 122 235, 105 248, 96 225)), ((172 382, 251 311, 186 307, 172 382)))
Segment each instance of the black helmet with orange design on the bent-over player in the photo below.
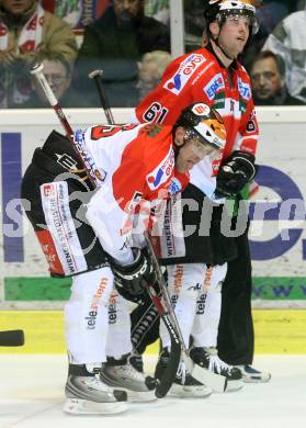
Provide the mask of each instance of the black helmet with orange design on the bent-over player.
POLYGON ((220 114, 214 109, 196 102, 185 108, 174 127, 183 126, 188 138, 196 137, 202 144, 223 149, 226 143, 226 128, 220 114))

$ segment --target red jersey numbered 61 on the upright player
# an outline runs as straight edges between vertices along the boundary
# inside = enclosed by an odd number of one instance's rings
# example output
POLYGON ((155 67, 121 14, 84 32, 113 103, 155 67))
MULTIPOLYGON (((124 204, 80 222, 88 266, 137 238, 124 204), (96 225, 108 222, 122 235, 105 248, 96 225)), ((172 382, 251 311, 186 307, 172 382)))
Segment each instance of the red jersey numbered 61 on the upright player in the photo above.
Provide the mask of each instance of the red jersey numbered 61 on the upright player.
POLYGON ((157 89, 136 108, 134 120, 172 125, 194 102, 213 105, 222 114, 227 131, 224 158, 234 149, 256 153, 258 123, 250 78, 239 63, 228 69, 206 48, 174 59, 157 89))

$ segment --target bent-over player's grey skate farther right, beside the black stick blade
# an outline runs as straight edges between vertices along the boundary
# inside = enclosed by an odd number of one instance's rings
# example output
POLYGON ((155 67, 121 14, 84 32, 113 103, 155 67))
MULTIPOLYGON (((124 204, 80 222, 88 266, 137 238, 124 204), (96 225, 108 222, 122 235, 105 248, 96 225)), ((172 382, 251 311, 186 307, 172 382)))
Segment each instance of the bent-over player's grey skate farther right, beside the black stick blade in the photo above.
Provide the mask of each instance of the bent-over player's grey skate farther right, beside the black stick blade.
POLYGON ((127 393, 131 402, 151 402, 156 399, 156 380, 137 371, 128 361, 129 354, 116 360, 107 357, 107 361, 101 369, 101 380, 111 387, 116 387, 127 393))

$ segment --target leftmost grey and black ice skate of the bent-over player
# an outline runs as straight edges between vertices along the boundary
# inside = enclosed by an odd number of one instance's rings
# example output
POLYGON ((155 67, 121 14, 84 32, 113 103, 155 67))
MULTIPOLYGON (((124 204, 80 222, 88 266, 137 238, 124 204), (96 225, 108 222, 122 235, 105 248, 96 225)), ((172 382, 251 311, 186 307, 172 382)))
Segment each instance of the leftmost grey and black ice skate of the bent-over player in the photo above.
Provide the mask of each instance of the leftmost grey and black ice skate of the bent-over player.
POLYGON ((126 393, 113 390, 100 379, 100 368, 69 364, 63 410, 76 415, 110 415, 127 409, 126 393))

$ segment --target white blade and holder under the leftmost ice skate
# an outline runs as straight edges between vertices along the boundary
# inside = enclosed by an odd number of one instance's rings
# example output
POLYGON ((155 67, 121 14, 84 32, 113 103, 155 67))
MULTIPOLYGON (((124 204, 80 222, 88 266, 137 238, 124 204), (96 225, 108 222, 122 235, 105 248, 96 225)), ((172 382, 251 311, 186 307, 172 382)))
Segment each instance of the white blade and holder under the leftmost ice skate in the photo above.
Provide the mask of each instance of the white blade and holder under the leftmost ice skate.
POLYGON ((63 410, 72 415, 113 415, 127 410, 126 402, 95 403, 88 399, 67 398, 63 410))

